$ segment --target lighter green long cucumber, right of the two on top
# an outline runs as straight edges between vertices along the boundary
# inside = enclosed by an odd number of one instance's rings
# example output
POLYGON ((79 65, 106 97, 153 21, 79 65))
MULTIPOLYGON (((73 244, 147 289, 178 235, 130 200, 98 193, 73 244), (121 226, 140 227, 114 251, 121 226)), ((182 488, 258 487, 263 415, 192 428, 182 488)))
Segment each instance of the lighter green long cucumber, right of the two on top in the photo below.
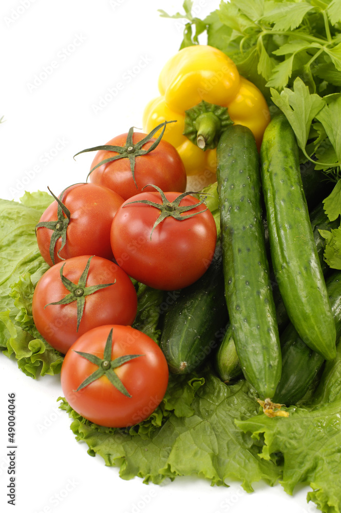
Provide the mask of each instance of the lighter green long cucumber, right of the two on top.
POLYGON ((302 189, 298 145, 285 116, 267 126, 260 160, 271 260, 283 303, 300 338, 333 359, 335 323, 302 189))

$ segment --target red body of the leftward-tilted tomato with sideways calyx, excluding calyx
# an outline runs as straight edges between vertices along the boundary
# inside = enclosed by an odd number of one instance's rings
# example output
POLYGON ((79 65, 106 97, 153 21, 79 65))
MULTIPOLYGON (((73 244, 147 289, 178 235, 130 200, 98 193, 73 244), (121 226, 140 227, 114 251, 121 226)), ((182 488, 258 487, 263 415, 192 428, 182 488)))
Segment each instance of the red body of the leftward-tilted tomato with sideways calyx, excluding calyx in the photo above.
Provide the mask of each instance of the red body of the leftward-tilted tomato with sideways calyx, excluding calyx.
MULTIPOLYGON (((97 184, 75 184, 66 189, 61 198, 70 211, 70 221, 66 228, 66 244, 60 251, 62 238, 56 241, 54 262, 62 259, 95 254, 98 257, 112 259, 110 246, 110 226, 113 216, 123 203, 116 192, 97 184)), ((41 222, 56 222, 58 203, 54 200, 40 218, 41 222)), ((66 215, 63 214, 63 219, 66 215)), ((36 229, 37 244, 43 259, 50 266, 49 248, 53 230, 45 227, 36 229)))

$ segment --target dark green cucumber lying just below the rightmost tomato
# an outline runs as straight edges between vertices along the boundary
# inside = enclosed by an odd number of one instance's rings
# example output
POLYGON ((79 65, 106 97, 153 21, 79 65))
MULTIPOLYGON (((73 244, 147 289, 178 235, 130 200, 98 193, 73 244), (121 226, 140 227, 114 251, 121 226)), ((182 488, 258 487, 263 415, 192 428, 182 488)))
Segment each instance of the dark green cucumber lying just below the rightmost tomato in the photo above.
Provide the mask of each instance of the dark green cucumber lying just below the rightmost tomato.
POLYGON ((165 314, 160 347, 169 370, 186 374, 203 364, 221 342, 227 321, 218 243, 210 267, 197 282, 179 292, 165 314))

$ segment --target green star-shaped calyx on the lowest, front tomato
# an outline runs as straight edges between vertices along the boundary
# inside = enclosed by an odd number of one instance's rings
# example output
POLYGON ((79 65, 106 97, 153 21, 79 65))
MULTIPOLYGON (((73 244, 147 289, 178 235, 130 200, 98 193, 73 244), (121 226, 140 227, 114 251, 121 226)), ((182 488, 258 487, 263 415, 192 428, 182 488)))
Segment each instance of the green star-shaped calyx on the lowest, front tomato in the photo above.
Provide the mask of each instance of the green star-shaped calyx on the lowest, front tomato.
MULTIPOLYGON (((140 356, 144 356, 144 354, 125 354, 124 356, 120 356, 118 358, 115 358, 114 360, 111 360, 111 352, 112 352, 112 328, 110 329, 110 332, 108 334, 107 341, 105 343, 103 358, 99 358, 96 356, 96 354, 92 353, 86 353, 82 351, 74 351, 77 352, 81 357, 86 358, 89 362, 93 363, 94 365, 98 366, 98 369, 96 369, 90 376, 88 376, 75 390, 78 392, 79 390, 82 390, 82 388, 86 387, 93 381, 98 380, 102 376, 106 376, 110 383, 115 386, 120 392, 124 394, 126 397, 131 397, 128 390, 123 385, 122 381, 118 377, 117 373, 114 369, 117 369, 121 365, 124 365, 127 362, 130 362, 130 360, 133 360, 135 358, 139 358, 140 356)), ((74 349, 73 349, 74 350, 74 349)))

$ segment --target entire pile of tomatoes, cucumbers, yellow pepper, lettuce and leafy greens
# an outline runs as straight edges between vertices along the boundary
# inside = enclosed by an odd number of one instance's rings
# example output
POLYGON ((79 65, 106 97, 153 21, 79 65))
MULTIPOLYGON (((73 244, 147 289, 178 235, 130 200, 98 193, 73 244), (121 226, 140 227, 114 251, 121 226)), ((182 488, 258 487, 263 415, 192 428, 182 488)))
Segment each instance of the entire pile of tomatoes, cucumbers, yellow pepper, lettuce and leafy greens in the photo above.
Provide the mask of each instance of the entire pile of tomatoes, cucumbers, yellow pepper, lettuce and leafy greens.
POLYGON ((302 483, 340 513, 341 3, 183 6, 146 133, 0 200, 0 348, 61 372, 123 479, 302 483))

